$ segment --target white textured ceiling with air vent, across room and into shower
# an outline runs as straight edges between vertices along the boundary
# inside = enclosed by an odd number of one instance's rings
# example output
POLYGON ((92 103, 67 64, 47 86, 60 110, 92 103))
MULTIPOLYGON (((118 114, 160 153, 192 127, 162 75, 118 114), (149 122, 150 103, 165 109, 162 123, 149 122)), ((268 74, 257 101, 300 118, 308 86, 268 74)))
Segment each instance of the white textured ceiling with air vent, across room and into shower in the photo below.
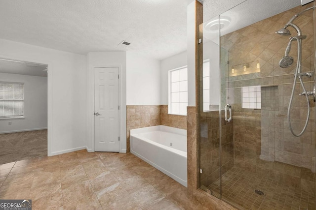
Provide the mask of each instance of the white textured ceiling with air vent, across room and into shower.
MULTIPOLYGON (((242 1, 203 0, 204 20, 242 1)), ((128 50, 161 60, 187 48, 188 2, 190 0, 0 0, 0 38, 83 55, 128 50), (118 46, 122 40, 131 44, 127 48, 118 46)), ((300 0, 248 0, 245 4, 248 5, 247 19, 234 27, 299 4, 300 0)), ((232 19, 235 18, 234 14, 232 19)))

